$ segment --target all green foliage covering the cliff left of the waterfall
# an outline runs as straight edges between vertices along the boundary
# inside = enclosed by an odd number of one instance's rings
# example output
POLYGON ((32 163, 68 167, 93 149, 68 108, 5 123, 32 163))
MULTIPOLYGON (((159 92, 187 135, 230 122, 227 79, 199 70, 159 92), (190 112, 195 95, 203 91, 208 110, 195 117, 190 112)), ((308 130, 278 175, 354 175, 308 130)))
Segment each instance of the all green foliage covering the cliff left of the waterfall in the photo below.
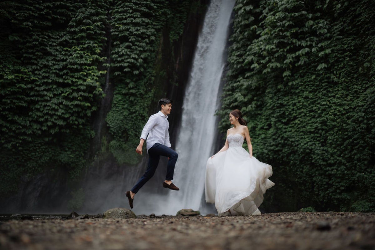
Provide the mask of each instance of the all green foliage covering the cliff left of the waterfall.
MULTIPOLYGON (((184 30, 199 1, 3 1, 0 37, 0 193, 21 176, 63 168, 78 180, 87 159, 93 112, 114 84, 106 122, 110 150, 134 164, 141 127, 155 102, 162 30, 184 30)), ((172 45, 171 45, 172 46, 172 45)), ((92 155, 96 152, 92 152, 92 155)), ((78 191, 77 191, 78 192, 78 191)), ((82 196, 75 193, 75 197, 82 196)), ((77 198, 77 199, 78 199, 77 198)), ((70 207, 77 207, 72 201, 70 207)))

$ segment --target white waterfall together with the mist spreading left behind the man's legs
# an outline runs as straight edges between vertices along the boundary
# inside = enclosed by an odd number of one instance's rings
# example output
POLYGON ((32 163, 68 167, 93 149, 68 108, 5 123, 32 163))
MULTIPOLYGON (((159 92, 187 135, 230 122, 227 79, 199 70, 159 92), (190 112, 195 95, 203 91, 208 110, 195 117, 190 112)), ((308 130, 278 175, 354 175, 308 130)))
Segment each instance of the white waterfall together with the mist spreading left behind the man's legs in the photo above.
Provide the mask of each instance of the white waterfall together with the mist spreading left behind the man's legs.
MULTIPOLYGON (((225 49, 234 3, 235 0, 211 0, 199 34, 183 99, 181 125, 176 145, 172 145, 178 153, 173 183, 180 191, 162 187, 167 159, 161 157, 153 178, 135 195, 135 214, 175 215, 179 210, 187 208, 199 210, 201 214, 216 213, 214 204, 205 202, 205 165, 208 157, 214 154, 218 121, 214 113, 220 105, 220 83, 226 63, 225 49)), ((172 129, 175 128, 169 127, 169 131, 172 129)), ((103 211, 113 207, 129 208, 124 192, 130 190, 144 173, 146 160, 148 157, 144 157, 132 171, 128 169, 126 173, 121 171, 122 173, 119 172, 117 175, 113 174, 111 181, 90 184, 92 194, 95 194, 95 190, 102 189, 98 197, 104 197, 96 201, 101 204, 93 204, 94 200, 91 197, 89 200, 92 208, 96 207, 96 211, 99 208, 103 211)), ((85 189, 85 193, 87 191, 90 192, 85 189)), ((84 210, 87 211, 90 204, 85 204, 84 210)))

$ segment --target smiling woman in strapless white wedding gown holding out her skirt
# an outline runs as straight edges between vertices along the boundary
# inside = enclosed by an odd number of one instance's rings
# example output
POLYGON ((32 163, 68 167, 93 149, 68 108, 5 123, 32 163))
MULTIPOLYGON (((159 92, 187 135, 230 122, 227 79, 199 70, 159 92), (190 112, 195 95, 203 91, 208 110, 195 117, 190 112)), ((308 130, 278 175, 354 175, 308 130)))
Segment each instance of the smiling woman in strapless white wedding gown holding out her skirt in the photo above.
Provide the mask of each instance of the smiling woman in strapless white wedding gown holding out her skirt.
POLYGON ((224 147, 208 158, 205 174, 206 202, 215 203, 219 216, 260 214, 263 194, 275 185, 268 178, 272 167, 253 157, 250 135, 241 111, 232 110, 233 125, 224 147), (249 153, 242 147, 246 138, 249 153))

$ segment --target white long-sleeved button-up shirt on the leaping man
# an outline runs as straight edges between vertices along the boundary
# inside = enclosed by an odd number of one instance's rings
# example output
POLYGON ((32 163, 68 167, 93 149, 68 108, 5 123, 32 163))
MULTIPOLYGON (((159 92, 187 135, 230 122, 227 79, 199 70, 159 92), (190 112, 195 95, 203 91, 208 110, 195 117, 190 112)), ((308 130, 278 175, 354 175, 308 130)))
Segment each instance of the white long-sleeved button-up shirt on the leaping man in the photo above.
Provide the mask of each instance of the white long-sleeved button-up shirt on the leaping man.
POLYGON ((150 118, 148 118, 146 125, 143 127, 140 138, 144 140, 147 138, 147 152, 157 142, 169 148, 171 147, 168 132, 169 122, 167 118, 168 115, 164 115, 161 111, 157 112, 157 114, 151 115, 150 118), (150 134, 148 135, 148 133, 150 134))

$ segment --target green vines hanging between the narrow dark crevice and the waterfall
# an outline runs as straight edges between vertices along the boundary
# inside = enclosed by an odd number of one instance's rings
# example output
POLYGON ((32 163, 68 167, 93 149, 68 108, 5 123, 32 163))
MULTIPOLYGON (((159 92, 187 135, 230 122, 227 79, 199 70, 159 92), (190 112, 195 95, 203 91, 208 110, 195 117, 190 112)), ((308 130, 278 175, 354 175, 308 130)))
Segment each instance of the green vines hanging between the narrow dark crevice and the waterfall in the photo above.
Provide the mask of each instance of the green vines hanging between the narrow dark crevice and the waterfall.
POLYGON ((190 5, 189 1, 149 0, 119 1, 114 6, 111 66, 116 87, 106 121, 113 135, 111 151, 119 163, 138 162, 139 124, 146 123, 154 92, 160 88, 154 83, 156 73, 162 73, 154 66, 162 39, 160 30, 165 26, 174 42, 183 33, 190 5))

